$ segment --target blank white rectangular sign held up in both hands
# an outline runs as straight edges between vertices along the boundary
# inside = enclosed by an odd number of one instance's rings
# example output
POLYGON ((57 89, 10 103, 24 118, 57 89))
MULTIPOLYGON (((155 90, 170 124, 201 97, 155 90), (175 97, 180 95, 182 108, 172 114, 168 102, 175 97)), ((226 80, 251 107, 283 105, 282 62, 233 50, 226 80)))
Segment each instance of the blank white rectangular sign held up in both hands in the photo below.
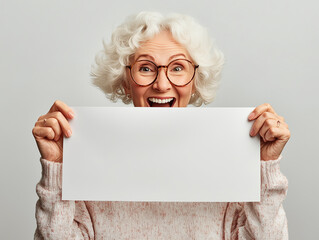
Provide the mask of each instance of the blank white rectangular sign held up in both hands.
POLYGON ((72 107, 63 200, 260 200, 248 108, 72 107))

